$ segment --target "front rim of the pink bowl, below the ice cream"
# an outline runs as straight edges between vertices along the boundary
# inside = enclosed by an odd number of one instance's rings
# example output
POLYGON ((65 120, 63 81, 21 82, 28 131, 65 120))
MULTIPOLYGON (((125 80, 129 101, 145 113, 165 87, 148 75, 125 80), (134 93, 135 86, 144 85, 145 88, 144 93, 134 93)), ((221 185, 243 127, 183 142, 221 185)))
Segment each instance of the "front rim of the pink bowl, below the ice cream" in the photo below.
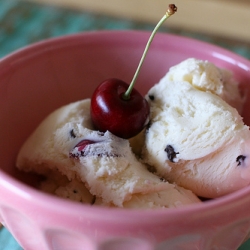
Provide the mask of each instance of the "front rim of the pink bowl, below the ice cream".
MULTIPOLYGON (((96 218, 96 214, 100 214, 100 217, 103 218, 105 216, 109 216, 112 214, 112 217, 121 218, 124 213, 128 213, 131 218, 134 219, 143 219, 145 215, 148 218, 153 219, 162 219, 162 216, 166 215, 189 215, 199 213, 211 212, 214 209, 220 207, 221 208, 231 208, 232 202, 241 201, 245 197, 249 197, 250 194, 250 186, 242 188, 238 191, 235 191, 231 194, 227 194, 225 196, 212 199, 209 201, 205 201, 202 203, 190 204, 183 207, 178 208, 167 208, 167 209, 130 209, 130 208, 110 208, 110 207, 102 207, 102 206, 92 206, 89 204, 82 204, 79 202, 62 199, 56 197, 52 194, 47 194, 45 192, 41 192, 35 188, 28 186, 27 184, 11 177, 9 174, 0 170, 0 187, 1 189, 7 190, 10 194, 16 195, 19 199, 25 200, 27 204, 33 206, 35 204, 36 207, 44 208, 47 211, 58 212, 58 208, 60 209, 60 213, 68 214, 69 211, 74 211, 76 215, 80 215, 82 213, 87 213, 89 216, 93 216, 96 218), (143 211, 143 213, 142 213, 143 211)), ((1 193, 2 191, 0 191, 1 193)), ((225 212, 225 211, 221 211, 225 212)), ((108 218, 108 217, 107 217, 108 218)), ((127 220, 127 219, 126 219, 127 220)), ((133 220, 133 219, 132 219, 133 220)))

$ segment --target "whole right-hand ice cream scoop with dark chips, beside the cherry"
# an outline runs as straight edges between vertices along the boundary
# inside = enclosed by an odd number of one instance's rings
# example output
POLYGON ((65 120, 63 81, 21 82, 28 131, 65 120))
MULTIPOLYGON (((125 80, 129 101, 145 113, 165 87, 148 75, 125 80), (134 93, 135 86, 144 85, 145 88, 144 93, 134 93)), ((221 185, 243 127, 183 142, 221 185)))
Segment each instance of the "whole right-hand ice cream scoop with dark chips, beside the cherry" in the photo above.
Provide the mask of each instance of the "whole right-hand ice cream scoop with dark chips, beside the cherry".
POLYGON ((170 68, 147 98, 147 164, 203 197, 249 185, 250 132, 236 110, 243 101, 231 72, 191 58, 170 68))

